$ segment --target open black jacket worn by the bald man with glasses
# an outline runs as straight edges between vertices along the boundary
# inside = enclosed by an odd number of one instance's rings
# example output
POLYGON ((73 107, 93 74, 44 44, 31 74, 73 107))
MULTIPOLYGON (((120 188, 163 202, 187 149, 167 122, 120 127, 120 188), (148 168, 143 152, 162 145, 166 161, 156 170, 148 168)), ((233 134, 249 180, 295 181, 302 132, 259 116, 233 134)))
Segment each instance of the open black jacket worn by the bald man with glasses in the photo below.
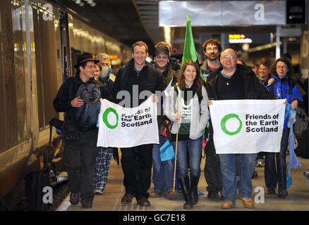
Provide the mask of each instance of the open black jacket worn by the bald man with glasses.
MULTIPOLYGON (((210 100, 217 100, 217 79, 219 72, 223 68, 218 68, 210 73, 207 77, 206 90, 210 100)), ((276 99, 272 94, 260 84, 259 80, 255 76, 255 73, 244 65, 237 64, 236 70, 243 78, 244 99, 276 99)))

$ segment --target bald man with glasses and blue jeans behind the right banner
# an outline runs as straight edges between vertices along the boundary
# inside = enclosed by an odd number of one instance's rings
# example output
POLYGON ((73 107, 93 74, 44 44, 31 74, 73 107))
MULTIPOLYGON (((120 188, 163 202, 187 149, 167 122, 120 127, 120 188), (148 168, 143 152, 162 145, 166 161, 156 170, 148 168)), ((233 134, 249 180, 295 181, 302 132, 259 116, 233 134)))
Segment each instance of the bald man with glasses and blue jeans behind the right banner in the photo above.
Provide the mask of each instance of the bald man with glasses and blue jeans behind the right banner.
MULTIPOLYGON (((206 89, 210 99, 274 99, 274 96, 269 94, 267 89, 260 84, 250 68, 237 64, 237 53, 234 49, 229 48, 222 51, 220 62, 222 67, 211 72, 207 77, 206 89)), ((208 105, 211 104, 212 101, 208 101, 208 105)), ((241 198, 244 207, 253 208, 254 203, 250 198, 253 190, 251 176, 257 153, 239 154, 241 161, 239 193, 237 193, 235 155, 219 154, 224 200, 221 208, 234 208, 237 195, 238 198, 241 198)))

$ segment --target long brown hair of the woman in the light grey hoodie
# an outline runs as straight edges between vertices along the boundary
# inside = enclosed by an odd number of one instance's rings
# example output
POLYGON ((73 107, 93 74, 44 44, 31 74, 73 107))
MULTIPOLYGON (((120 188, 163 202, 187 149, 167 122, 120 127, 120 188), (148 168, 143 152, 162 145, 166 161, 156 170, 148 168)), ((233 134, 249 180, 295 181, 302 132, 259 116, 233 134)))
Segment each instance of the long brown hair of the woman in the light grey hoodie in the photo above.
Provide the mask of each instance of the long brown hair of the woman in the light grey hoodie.
POLYGON ((200 77, 200 68, 198 64, 193 62, 193 60, 188 60, 186 61, 185 64, 183 64, 183 68, 181 68, 180 72, 178 73, 177 86, 180 89, 186 89, 184 72, 188 65, 193 65, 195 67, 196 77, 193 82, 193 88, 195 89, 195 91, 198 91, 202 88, 203 80, 202 80, 202 77, 200 77))

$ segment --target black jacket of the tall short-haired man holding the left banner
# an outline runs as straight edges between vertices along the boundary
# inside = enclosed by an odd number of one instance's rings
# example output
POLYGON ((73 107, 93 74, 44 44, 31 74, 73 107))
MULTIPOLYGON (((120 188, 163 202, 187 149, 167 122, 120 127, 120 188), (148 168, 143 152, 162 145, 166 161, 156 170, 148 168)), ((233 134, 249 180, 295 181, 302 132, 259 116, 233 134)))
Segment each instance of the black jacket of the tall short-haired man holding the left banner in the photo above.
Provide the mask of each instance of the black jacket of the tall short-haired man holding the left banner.
MULTIPOLYGON (((116 99, 119 91, 128 91, 131 96, 131 107, 137 106, 133 105, 133 89, 132 85, 129 85, 129 82, 131 82, 129 79, 133 79, 133 76, 136 75, 137 72, 134 68, 134 59, 129 60, 128 63, 119 69, 119 72, 116 75, 113 89, 111 91, 111 97, 113 98, 114 103, 119 103, 123 100, 123 98, 116 99)), ((152 65, 150 65, 150 63, 146 62, 146 65, 139 72, 137 79, 138 84, 136 85, 138 85, 138 96, 140 96, 140 92, 142 91, 151 91, 154 94, 155 91, 163 91, 164 89, 164 82, 161 72, 157 70, 157 68, 154 68, 152 65)), ((138 99, 138 105, 140 105, 140 103, 145 100, 146 98, 138 99)))

